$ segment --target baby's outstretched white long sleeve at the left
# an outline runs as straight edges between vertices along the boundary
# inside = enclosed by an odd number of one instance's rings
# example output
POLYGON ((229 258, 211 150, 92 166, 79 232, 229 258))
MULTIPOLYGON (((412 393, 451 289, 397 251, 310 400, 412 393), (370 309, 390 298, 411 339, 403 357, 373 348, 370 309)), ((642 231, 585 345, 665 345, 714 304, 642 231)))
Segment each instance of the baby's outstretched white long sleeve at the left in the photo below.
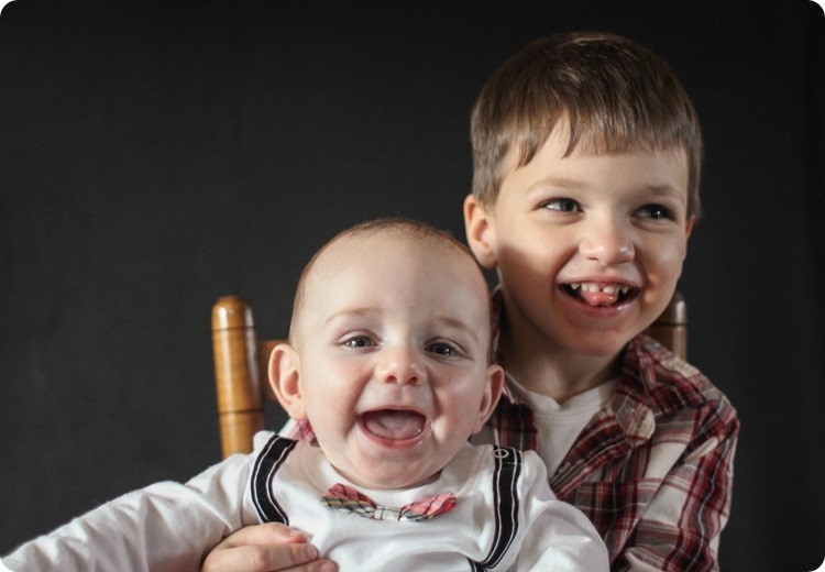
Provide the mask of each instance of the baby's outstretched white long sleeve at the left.
POLYGON ((3 558, 13 572, 198 571, 212 547, 244 526, 245 457, 186 484, 156 483, 110 501, 3 558))

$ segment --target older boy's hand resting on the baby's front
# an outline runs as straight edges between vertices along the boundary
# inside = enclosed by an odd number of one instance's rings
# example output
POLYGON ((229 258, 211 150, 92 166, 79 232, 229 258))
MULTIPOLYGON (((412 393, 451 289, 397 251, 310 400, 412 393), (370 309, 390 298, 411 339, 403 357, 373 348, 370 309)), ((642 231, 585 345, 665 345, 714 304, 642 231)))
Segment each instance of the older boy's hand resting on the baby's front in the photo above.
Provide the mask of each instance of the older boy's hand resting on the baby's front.
POLYGON ((248 526, 207 554, 201 572, 334 572, 307 536, 277 522, 248 526))

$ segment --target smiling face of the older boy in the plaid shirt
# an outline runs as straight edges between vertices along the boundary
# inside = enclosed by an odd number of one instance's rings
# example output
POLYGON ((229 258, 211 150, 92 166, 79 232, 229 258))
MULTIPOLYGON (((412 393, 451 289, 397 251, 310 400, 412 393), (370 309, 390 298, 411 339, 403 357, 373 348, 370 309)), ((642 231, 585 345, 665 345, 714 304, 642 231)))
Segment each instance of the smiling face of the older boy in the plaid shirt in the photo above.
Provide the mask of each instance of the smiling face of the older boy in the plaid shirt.
POLYGON ((498 270, 508 336, 610 358, 661 314, 682 272, 688 161, 681 150, 564 156, 563 123, 527 165, 510 153, 495 205, 468 197, 468 239, 498 270))

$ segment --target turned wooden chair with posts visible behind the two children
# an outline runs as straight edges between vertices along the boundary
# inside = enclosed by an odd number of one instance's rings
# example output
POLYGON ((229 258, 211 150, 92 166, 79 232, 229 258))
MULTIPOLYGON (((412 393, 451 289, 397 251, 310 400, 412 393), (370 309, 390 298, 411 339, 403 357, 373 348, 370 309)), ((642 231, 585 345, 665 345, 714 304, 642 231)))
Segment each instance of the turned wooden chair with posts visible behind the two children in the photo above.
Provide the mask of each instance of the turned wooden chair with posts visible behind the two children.
MULTIPOLYGON (((678 355, 688 355, 688 307, 676 292, 646 331, 678 355)), ((212 307, 218 417, 223 457, 252 451, 252 437, 264 428, 264 404, 275 399, 267 362, 280 340, 258 340, 252 307, 240 296, 219 298, 212 307)))

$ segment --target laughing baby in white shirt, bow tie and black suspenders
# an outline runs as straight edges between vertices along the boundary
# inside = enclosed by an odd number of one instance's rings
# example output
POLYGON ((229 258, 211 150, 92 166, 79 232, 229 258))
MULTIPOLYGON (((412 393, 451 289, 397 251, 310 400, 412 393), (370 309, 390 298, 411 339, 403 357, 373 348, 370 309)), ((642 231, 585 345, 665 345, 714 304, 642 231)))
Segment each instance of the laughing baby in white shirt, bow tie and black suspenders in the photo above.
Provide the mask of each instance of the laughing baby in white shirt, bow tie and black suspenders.
POLYGON ((262 432, 253 454, 125 495, 8 563, 197 570, 227 531, 263 521, 307 532, 344 570, 606 571, 595 528, 553 497, 535 453, 468 442, 503 386, 491 339, 486 283, 455 239, 406 219, 344 231, 304 272, 270 361, 320 447, 262 432))

